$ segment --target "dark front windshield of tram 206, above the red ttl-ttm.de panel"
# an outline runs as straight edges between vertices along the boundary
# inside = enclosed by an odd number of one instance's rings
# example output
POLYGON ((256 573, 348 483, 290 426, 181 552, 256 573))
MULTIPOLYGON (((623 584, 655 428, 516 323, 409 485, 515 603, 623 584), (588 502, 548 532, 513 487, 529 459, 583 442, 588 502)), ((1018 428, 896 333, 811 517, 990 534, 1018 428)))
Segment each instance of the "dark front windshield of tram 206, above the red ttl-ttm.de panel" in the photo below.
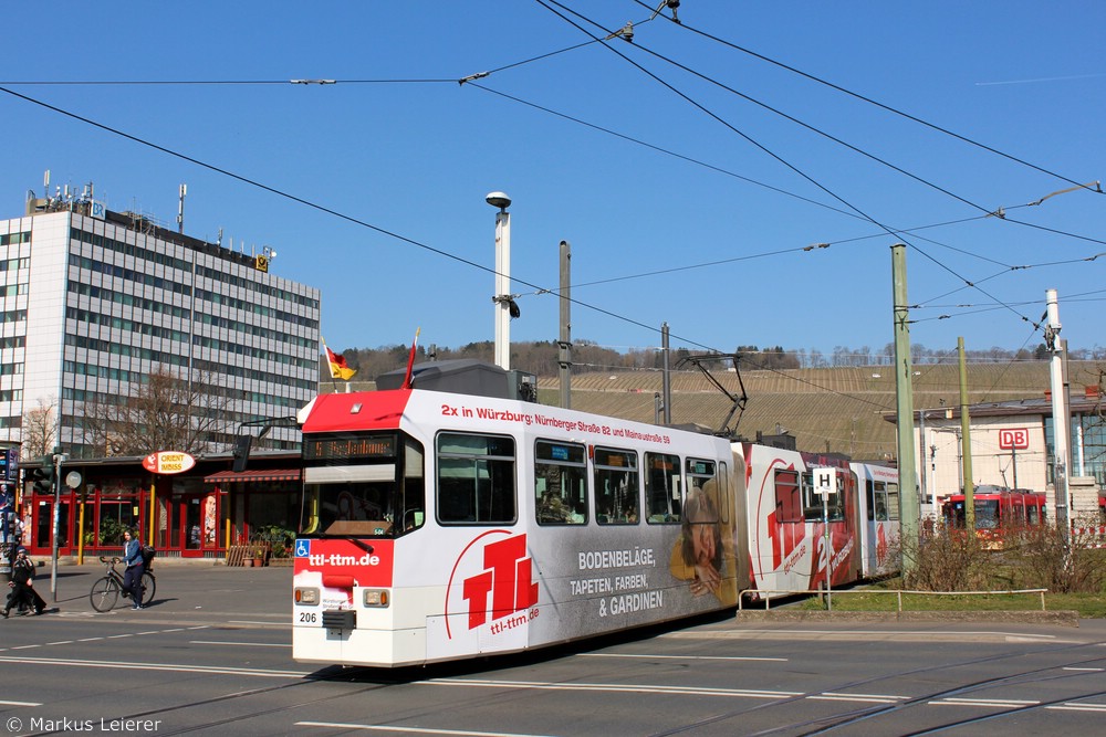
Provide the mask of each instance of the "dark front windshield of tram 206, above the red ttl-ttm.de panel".
POLYGON ((397 537, 425 520, 422 449, 399 433, 304 439, 304 535, 397 537))

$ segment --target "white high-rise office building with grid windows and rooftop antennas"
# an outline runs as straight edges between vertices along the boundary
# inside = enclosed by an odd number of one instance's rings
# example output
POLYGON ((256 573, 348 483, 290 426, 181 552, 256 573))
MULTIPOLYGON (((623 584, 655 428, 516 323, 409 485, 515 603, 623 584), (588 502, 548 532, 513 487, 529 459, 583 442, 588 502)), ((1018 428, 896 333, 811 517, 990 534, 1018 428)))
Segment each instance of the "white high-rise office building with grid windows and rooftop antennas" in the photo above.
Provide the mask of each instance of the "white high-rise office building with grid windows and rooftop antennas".
MULTIPOLYGON (((319 387, 320 293, 269 273, 270 255, 90 198, 29 198, 0 220, 0 443, 21 442, 28 411, 48 407, 64 452, 112 455, 82 408, 136 396, 159 368, 222 398, 209 452, 243 422, 294 417, 319 387)), ((298 448, 294 427, 254 443, 298 448)))

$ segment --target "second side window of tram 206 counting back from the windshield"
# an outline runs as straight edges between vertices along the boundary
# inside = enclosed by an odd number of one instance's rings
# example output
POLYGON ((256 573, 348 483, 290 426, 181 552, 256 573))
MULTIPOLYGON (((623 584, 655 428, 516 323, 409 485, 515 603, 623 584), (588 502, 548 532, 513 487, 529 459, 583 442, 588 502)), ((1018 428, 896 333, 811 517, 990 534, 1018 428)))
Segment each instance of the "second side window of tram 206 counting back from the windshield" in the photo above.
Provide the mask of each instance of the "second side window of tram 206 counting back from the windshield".
POLYGON ((587 462, 583 445, 539 440, 534 446, 534 513, 543 525, 587 522, 587 462))

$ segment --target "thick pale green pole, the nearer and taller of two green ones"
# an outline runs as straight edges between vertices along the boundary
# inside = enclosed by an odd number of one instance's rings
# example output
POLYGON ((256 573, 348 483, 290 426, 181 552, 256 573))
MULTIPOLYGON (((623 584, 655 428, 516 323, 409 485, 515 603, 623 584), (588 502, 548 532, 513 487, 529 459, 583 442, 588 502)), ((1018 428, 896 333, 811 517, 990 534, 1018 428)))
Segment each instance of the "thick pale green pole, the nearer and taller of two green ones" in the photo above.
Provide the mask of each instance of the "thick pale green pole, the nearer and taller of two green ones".
POLYGON ((895 318, 895 398, 898 440, 900 536, 902 572, 918 564, 921 506, 914 456, 914 377, 910 370, 910 329, 906 289, 906 244, 891 246, 891 283, 895 318))

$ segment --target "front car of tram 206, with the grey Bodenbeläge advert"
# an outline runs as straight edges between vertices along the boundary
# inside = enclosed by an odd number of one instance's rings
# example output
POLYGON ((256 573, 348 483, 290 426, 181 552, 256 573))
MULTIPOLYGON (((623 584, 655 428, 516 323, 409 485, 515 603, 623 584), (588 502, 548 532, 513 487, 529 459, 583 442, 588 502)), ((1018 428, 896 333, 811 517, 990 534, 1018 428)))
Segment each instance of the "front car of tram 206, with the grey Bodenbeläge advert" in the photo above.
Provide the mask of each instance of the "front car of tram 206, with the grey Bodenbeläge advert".
MULTIPOLYGON (((425 470, 408 460, 396 471, 411 487, 425 480, 421 523, 379 537, 296 540, 298 661, 394 666, 519 651, 733 606, 749 580, 737 554, 743 473, 732 472, 741 459, 721 439, 512 400, 392 390, 319 397, 304 442, 388 431, 424 453, 425 470), (445 508, 437 489, 467 472, 463 449, 486 438, 497 450, 471 456, 472 478, 486 487, 499 474, 502 483, 513 464, 515 507, 510 519, 483 524, 469 517, 487 509, 445 508), (601 494, 619 456, 636 468, 624 474, 632 482, 618 489, 625 508, 616 520, 619 512, 598 501, 614 498, 601 494), (549 503, 547 492, 572 483, 570 504, 549 503), (640 516, 630 516, 632 503, 640 516)), ((305 481, 312 473, 321 472, 305 468, 305 481)))

